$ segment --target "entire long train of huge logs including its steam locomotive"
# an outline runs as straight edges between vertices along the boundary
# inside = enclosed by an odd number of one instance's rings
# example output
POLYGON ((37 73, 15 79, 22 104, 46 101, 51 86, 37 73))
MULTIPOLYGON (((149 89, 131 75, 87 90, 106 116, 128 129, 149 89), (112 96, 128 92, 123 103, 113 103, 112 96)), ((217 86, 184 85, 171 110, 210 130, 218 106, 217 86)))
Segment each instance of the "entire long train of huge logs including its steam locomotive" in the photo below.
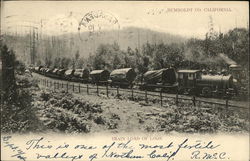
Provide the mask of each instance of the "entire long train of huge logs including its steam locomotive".
POLYGON ((206 97, 230 97, 238 94, 237 80, 232 74, 210 75, 200 70, 178 70, 164 68, 144 73, 136 80, 136 72, 132 68, 108 70, 88 69, 49 69, 42 66, 31 68, 33 72, 81 83, 108 84, 112 87, 132 88, 135 84, 142 90, 162 90, 167 93, 200 95, 206 97), (135 81, 136 80, 136 81, 135 81), (135 83, 137 82, 137 83, 135 83))

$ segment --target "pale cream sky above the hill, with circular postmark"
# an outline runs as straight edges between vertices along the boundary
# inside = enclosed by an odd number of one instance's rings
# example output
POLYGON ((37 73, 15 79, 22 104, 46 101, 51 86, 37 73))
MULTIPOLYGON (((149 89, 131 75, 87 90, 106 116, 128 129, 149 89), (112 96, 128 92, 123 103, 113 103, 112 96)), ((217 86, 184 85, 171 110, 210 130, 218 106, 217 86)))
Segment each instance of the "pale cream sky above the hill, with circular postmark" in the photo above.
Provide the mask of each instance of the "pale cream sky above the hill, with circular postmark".
POLYGON ((7 1, 1 6, 3 32, 29 32, 35 26, 48 35, 143 27, 184 37, 204 38, 214 31, 248 27, 247 1, 7 1), (79 25, 88 13, 105 15, 79 25), (116 19, 117 23, 110 22, 116 19), (212 22, 212 23, 211 23, 212 22), (41 27, 42 26, 42 27, 41 27))

